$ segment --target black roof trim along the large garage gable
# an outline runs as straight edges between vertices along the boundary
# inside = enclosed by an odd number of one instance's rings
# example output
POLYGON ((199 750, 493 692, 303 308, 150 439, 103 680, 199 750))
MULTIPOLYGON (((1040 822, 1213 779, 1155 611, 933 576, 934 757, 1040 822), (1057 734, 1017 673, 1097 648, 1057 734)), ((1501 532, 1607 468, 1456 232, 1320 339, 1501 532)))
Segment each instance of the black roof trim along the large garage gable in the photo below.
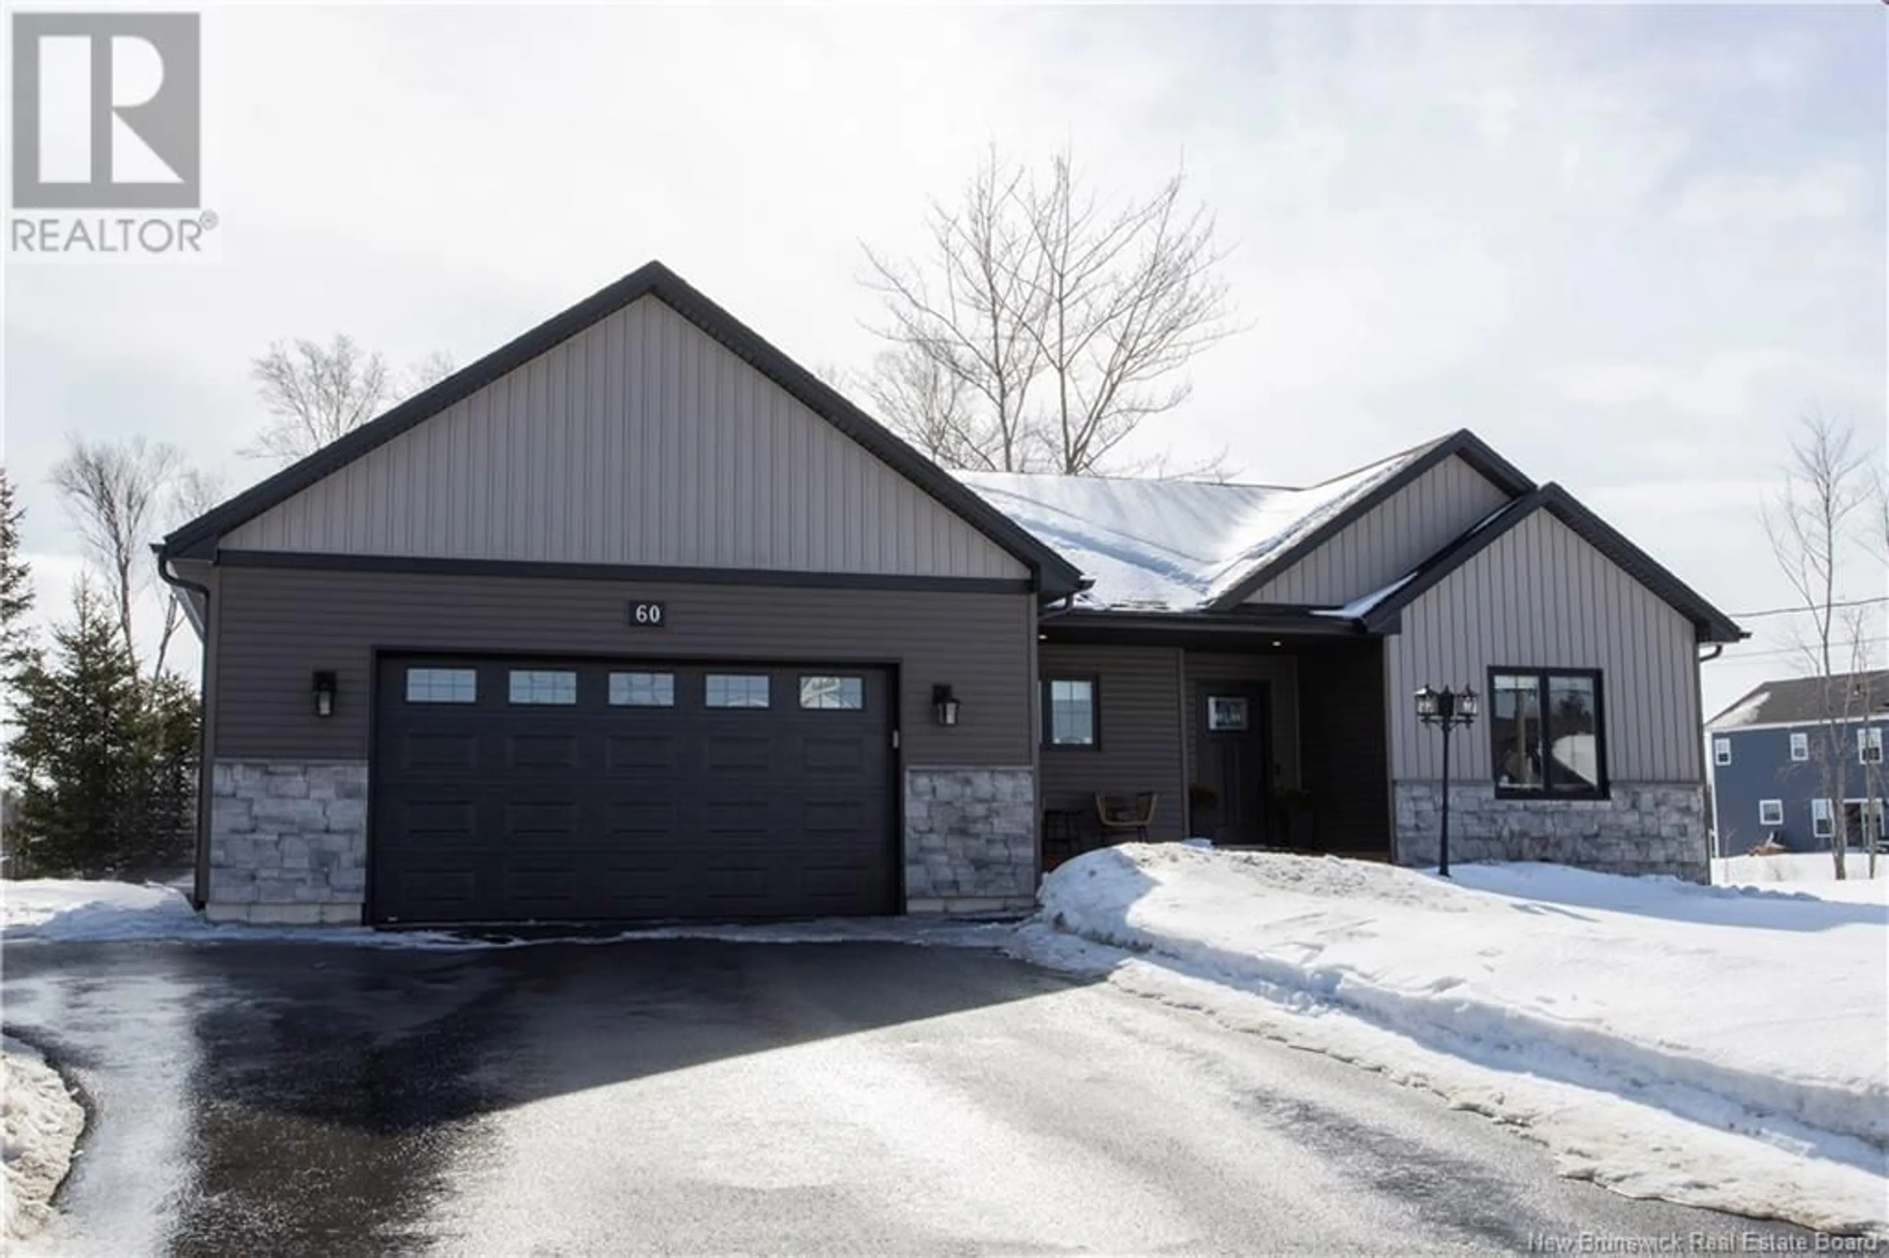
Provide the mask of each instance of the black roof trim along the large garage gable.
POLYGON ((956 512, 979 533, 1020 559, 1037 576, 1047 595, 1073 593, 1081 587, 1081 572, 1060 553, 1039 542, 1009 516, 990 506, 977 493, 958 484, 950 474, 899 440, 890 429, 842 399, 805 366, 771 346, 759 332, 722 310, 689 287, 661 263, 644 263, 616 283, 591 293, 576 306, 552 315, 523 336, 518 336, 485 357, 453 372, 378 419, 363 423, 353 433, 323 446, 306 459, 293 463, 234 499, 213 506, 164 538, 168 553, 198 553, 215 538, 261 516, 270 506, 314 485, 361 455, 383 446, 400 433, 425 423, 448 406, 470 397, 506 372, 512 372, 553 346, 570 340, 589 325, 623 306, 655 297, 684 319, 714 336, 757 372, 786 389, 803 406, 867 448, 875 457, 956 512))

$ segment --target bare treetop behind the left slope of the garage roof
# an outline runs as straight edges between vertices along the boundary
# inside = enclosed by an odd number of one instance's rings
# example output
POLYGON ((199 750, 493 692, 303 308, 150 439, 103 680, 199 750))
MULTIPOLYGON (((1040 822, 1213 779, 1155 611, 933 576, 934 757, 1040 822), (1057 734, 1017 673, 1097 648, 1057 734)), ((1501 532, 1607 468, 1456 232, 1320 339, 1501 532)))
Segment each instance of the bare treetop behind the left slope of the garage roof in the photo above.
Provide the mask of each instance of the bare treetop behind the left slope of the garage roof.
POLYGON ((440 351, 395 378, 385 355, 363 349, 344 334, 325 346, 314 340, 278 340, 249 365, 249 376, 272 421, 255 446, 238 453, 283 463, 300 459, 451 372, 451 357, 440 351))

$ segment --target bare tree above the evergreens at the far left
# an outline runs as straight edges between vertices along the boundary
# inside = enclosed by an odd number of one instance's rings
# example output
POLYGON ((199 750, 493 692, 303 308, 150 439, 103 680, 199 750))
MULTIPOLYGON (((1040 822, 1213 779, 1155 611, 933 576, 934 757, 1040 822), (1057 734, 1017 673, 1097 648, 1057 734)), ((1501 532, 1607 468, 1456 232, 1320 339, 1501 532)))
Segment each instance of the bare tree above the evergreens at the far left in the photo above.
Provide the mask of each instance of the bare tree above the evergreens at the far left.
POLYGON ((138 659, 132 608, 157 580, 147 548, 164 523, 181 474, 183 455, 176 446, 153 446, 142 436, 119 444, 70 436, 66 457, 53 467, 53 485, 106 578, 106 597, 132 663, 138 659))

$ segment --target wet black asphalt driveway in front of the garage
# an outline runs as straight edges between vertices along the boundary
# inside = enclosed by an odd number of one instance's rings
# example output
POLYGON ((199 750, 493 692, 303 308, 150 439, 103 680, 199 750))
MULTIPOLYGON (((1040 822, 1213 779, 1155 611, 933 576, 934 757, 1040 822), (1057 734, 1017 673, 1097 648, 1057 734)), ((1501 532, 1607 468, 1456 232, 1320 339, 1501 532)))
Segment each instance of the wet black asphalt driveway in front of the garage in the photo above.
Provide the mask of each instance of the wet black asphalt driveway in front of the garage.
POLYGON ((15 944, 98 1254, 1388 1252, 1787 1228, 1558 1179, 1326 1058, 992 952, 15 944))

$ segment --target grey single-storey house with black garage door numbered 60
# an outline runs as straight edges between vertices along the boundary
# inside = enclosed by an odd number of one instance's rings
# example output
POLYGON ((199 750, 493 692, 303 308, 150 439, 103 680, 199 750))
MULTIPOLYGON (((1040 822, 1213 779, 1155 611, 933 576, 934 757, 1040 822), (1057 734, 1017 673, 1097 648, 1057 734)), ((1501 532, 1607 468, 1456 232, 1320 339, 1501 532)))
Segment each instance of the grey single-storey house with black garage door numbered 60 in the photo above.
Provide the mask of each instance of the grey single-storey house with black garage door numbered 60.
POLYGON ((213 918, 1020 909, 1152 839, 1706 875, 1698 593, 1472 433, 950 474, 657 263, 164 538, 213 918), (1115 831, 1109 831, 1115 833, 1115 831), (1052 854, 1054 858, 1054 854, 1052 854))

